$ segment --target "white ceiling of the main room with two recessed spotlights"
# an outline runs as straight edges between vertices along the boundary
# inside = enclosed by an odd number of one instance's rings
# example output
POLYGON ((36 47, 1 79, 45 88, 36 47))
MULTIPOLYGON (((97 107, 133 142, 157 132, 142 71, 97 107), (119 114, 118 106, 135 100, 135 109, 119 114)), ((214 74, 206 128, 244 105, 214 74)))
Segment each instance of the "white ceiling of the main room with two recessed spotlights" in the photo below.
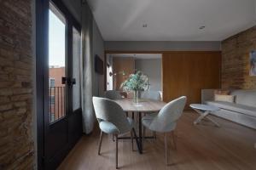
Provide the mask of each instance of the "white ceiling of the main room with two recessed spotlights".
POLYGON ((255 0, 88 2, 105 41, 221 41, 256 23, 255 0))

